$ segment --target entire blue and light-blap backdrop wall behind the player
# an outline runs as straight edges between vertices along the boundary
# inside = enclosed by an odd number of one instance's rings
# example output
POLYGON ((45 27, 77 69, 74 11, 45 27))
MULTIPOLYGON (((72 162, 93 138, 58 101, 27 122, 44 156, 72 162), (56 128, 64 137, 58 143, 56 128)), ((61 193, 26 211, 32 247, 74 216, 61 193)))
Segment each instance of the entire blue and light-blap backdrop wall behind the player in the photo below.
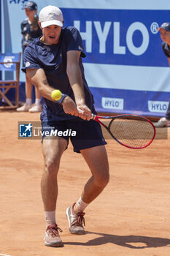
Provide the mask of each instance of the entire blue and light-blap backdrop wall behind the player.
MULTIPOLYGON (((2 0, 2 52, 21 50, 26 1, 2 0)), ((39 11, 56 1, 36 0, 36 4, 39 11)), ((163 116, 170 99, 170 68, 157 29, 170 21, 169 0, 58 0, 57 4, 64 26, 80 30, 85 76, 96 110, 163 116)), ((20 81, 25 81, 23 72, 20 81)))

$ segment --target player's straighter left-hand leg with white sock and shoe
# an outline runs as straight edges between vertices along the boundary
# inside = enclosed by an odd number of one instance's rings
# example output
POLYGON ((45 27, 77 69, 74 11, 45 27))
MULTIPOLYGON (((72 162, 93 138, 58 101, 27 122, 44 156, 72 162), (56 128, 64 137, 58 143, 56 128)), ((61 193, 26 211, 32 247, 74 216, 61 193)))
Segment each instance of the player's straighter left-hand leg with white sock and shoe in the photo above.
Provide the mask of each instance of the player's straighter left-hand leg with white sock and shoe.
POLYGON ((55 206, 58 197, 58 169, 66 146, 67 141, 63 138, 44 139, 42 144, 45 168, 42 173, 41 189, 47 223, 45 233, 45 245, 47 246, 63 246, 58 234, 60 229, 55 222, 55 206))

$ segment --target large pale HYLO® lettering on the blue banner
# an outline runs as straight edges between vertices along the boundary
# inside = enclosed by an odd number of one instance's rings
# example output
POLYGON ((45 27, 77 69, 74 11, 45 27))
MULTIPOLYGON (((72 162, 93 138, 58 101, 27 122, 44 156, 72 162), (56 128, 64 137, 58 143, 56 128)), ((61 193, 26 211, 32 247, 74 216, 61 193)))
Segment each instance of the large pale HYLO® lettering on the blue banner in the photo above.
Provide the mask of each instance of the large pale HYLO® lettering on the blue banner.
MULTIPOLYGON (((147 26, 144 25, 144 23, 141 22, 134 22, 131 23, 131 25, 128 27, 126 32, 126 46, 128 49, 126 49, 125 45, 120 45, 120 29, 121 24, 120 22, 111 22, 111 21, 105 21, 104 26, 102 29, 101 22, 100 21, 86 21, 86 32, 82 32, 82 39, 85 40, 86 45, 86 51, 88 53, 92 52, 92 31, 93 26, 96 29, 96 34, 98 37, 99 42, 99 53, 106 53, 106 45, 107 45, 107 38, 109 37, 109 33, 111 33, 111 26, 113 26, 113 48, 112 53, 114 54, 126 54, 126 51, 129 50, 132 54, 139 56, 144 54, 144 52, 147 50, 149 42, 150 42, 150 36, 147 29, 147 26), (134 33, 136 31, 139 31, 142 35, 142 42, 139 46, 136 47, 133 37, 134 33)), ((155 22, 150 25, 150 29, 152 29, 152 33, 158 33, 156 27, 158 28, 158 25, 155 22)), ((77 27, 77 29, 80 30, 80 20, 74 20, 74 26, 77 27)))

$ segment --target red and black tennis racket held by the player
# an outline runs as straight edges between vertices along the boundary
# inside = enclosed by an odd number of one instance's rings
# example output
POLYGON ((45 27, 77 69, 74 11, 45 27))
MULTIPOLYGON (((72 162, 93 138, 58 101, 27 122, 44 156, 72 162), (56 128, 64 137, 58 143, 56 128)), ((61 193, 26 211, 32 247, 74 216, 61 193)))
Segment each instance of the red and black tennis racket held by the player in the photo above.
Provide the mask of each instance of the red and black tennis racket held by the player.
POLYGON ((146 148, 155 138, 155 127, 152 122, 137 115, 119 116, 96 116, 92 114, 91 119, 98 121, 117 143, 127 148, 146 148), (104 124, 101 119, 109 122, 104 124))

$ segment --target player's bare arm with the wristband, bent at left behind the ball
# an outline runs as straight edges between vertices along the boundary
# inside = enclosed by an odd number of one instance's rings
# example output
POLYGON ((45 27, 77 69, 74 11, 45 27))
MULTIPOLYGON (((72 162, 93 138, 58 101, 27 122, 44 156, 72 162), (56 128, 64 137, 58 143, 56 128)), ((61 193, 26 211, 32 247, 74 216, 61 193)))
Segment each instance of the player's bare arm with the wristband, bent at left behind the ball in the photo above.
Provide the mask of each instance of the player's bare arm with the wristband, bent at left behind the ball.
MULTIPOLYGON (((47 83, 47 77, 45 75, 44 69, 27 69, 26 73, 34 86, 39 90, 42 97, 55 102, 51 98, 51 93, 55 89, 47 83)), ((69 96, 63 99, 62 105, 65 113, 78 116, 77 107, 69 96)))

